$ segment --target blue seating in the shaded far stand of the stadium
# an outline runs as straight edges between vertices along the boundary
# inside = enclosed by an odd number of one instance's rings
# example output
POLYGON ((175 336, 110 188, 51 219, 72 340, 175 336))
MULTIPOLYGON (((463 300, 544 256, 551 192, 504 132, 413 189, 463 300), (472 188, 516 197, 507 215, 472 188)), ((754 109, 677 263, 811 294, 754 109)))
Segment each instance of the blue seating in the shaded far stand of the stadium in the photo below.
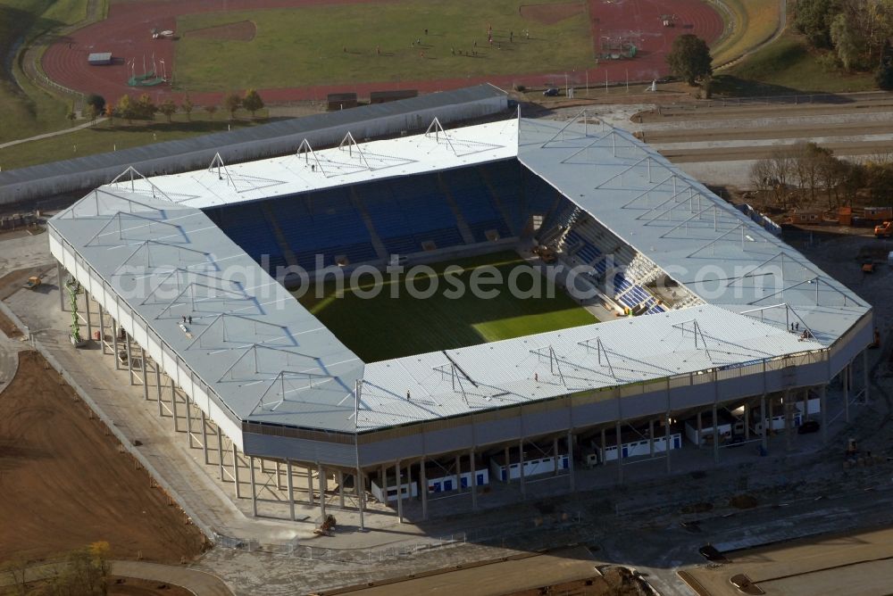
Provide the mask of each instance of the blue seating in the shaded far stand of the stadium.
MULTIPOLYGON (((560 214, 569 205, 559 200, 553 187, 514 160, 448 170, 441 176, 475 242, 486 241, 491 229, 501 237, 514 236, 531 213, 560 214)), ((263 208, 257 203, 238 203, 209 209, 207 214, 256 261, 269 255, 273 267, 285 264, 284 248, 274 233, 279 228, 298 264, 313 270, 318 254, 325 266, 339 255, 352 263, 379 258, 363 210, 392 254, 420 252, 425 242, 438 248, 464 244, 437 174, 289 195, 269 199, 263 208), (361 204, 355 205, 355 198, 361 204)), ((601 255, 595 244, 580 240, 580 258, 597 261, 601 255)), ((596 267, 604 272, 604 260, 596 267)))

